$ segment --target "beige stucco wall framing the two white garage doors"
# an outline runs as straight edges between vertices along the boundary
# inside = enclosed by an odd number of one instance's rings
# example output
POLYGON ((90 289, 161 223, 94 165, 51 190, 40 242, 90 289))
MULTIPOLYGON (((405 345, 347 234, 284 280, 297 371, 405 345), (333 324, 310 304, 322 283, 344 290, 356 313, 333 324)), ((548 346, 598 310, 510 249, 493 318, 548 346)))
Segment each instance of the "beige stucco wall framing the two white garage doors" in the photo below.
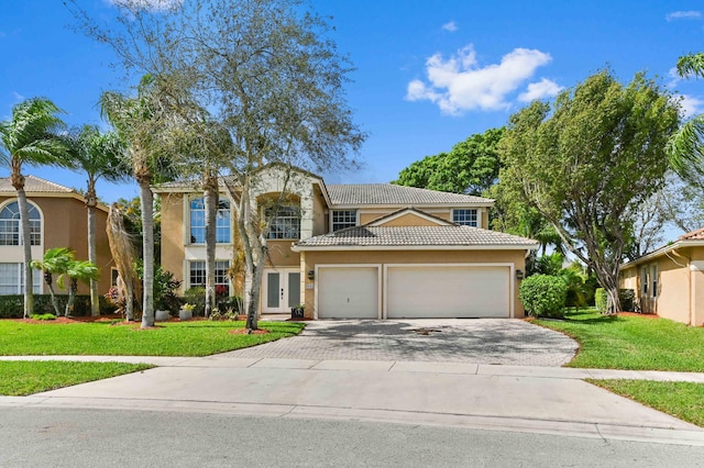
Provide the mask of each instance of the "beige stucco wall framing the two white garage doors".
MULTIPOLYGON (((525 250, 328 250, 305 252, 301 256, 304 271, 316 269, 316 265, 352 264, 514 264, 515 269, 525 270, 525 250)), ((383 275, 383 268, 382 268, 383 275)), ((302 275, 301 288, 305 291, 307 317, 315 316, 316 291, 309 289, 315 280, 302 275)), ((519 281, 514 281, 514 316, 525 316, 524 307, 518 299, 519 281)), ((301 291, 301 292, 302 292, 301 291)), ((382 298, 383 301, 383 298, 382 298)))

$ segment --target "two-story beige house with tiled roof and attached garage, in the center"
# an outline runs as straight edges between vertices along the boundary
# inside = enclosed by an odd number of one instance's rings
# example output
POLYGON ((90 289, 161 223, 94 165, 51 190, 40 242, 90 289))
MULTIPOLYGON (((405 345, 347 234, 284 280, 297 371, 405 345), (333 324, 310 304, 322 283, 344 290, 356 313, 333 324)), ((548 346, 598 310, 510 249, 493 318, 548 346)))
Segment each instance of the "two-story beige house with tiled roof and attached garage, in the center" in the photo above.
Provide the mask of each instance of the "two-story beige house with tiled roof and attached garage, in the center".
MULTIPOLYGON (((263 210, 284 190, 283 166, 268 166, 252 199, 263 210)), ((162 264, 205 283, 202 193, 193 185, 154 188, 162 196, 162 264)), ((262 313, 305 303, 315 319, 520 317, 518 278, 538 243, 487 230, 493 200, 371 183, 326 185, 296 171, 268 234, 262 313)), ((221 192, 218 288, 231 290, 233 220, 221 192)))

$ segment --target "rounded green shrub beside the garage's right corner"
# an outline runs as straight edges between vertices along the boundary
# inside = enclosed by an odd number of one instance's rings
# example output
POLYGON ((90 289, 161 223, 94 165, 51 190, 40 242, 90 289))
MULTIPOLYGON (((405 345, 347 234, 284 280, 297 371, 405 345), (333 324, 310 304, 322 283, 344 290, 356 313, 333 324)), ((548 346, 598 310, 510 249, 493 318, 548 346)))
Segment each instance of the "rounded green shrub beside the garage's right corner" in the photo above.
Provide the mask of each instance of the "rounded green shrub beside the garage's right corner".
POLYGON ((534 275, 520 283, 518 297, 530 315, 562 319, 566 293, 568 288, 562 278, 534 275))

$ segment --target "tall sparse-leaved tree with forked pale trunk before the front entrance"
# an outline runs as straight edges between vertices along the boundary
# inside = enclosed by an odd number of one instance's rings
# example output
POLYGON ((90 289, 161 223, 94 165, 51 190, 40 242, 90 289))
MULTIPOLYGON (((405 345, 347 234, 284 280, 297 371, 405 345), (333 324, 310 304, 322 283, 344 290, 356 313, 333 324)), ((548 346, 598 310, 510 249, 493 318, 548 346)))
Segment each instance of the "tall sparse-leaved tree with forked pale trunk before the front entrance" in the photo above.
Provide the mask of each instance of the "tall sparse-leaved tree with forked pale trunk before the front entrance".
MULTIPOLYGON (((345 100, 351 67, 336 51, 329 24, 300 0, 184 0, 158 12, 123 0, 116 3, 120 14, 113 24, 97 24, 69 4, 125 67, 176 77, 174 96, 193 97, 212 113, 217 131, 206 135, 218 136, 196 140, 202 148, 197 154, 209 153, 211 167, 231 176, 227 190, 235 200, 249 279, 246 326, 256 328, 268 229, 275 205, 287 199, 292 167, 354 168, 349 154, 365 138, 345 100), (262 218, 251 193, 271 164, 279 165, 285 183, 266 211, 272 214, 262 218)), ((190 125, 186 115, 193 109, 185 109, 177 112, 190 125)))

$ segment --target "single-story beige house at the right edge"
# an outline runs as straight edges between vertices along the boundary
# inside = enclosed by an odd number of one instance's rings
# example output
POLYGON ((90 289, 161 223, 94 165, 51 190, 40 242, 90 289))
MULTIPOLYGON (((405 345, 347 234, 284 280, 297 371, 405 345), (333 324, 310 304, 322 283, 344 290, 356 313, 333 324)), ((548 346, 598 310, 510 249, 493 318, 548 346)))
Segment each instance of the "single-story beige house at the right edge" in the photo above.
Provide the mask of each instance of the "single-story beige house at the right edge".
POLYGON ((704 229, 625 264, 619 283, 636 291, 642 312, 704 325, 704 229))

